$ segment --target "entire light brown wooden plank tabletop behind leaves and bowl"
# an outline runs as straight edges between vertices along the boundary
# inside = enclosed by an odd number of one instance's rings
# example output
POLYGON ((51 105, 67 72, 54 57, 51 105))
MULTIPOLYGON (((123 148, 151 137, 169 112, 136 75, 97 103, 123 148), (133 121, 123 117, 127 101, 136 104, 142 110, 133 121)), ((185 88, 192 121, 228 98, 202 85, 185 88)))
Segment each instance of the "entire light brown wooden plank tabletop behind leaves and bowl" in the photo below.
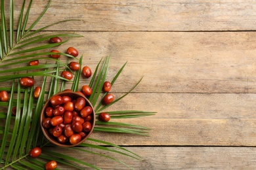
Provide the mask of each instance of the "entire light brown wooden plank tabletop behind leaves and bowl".
MULTIPOLYGON (((34 4, 29 23, 46 5, 34 4)), ((111 110, 158 112, 121 120, 152 128, 151 137, 92 135, 142 156, 123 158, 134 169, 256 169, 255 9, 254 1, 240 0, 53 0, 37 28, 79 19, 46 31, 83 35, 60 49, 72 43, 93 70, 111 55, 108 78, 128 61, 112 89, 117 96, 144 76, 111 110)), ((127 168, 84 157, 102 169, 127 168)))

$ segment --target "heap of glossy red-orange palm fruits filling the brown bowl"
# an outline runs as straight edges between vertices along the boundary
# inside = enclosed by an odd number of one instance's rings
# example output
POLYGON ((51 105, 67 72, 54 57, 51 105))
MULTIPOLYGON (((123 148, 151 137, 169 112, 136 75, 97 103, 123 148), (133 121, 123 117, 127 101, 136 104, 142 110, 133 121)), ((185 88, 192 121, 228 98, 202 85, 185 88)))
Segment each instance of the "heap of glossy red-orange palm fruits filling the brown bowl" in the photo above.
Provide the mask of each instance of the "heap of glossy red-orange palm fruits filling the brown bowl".
POLYGON ((95 114, 85 97, 56 94, 47 102, 41 126, 51 139, 65 145, 77 144, 92 131, 95 114))

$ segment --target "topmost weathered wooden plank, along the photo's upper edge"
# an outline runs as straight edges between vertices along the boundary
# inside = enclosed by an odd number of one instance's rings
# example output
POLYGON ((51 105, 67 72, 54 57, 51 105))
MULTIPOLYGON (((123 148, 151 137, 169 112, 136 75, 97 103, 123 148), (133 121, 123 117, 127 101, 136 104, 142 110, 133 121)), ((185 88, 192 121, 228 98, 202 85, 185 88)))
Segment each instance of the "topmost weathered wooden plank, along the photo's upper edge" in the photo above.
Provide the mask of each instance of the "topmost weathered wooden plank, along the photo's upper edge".
MULTIPOLYGON (((33 1, 29 24, 47 5, 33 1)), ((15 1, 15 17, 22 0, 15 1)), ((6 5, 6 9, 9 7, 6 5)), ((37 26, 66 19, 81 22, 60 24, 47 30, 61 31, 223 31, 255 30, 251 1, 53 1, 37 26)))

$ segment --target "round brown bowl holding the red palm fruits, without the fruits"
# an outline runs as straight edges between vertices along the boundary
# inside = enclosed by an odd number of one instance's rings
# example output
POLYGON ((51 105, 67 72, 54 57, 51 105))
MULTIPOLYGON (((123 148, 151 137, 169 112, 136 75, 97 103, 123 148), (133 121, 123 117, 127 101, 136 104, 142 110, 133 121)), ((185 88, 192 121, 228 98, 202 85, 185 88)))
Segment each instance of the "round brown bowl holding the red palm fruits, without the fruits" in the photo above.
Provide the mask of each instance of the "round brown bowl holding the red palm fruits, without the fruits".
MULTIPOLYGON (((49 100, 45 103, 45 105, 43 106, 43 110, 41 111, 40 126, 41 126, 41 129, 42 129, 42 131, 43 131, 43 134, 45 135, 45 137, 46 137, 51 143, 56 144, 57 146, 72 147, 72 146, 76 146, 76 145, 78 145, 78 144, 83 143, 83 142, 91 135, 91 133, 93 132, 93 128, 95 127, 95 110, 93 109, 93 105, 91 105, 91 103, 89 102, 89 100, 88 100, 86 97, 84 97, 83 95, 81 95, 81 94, 79 94, 79 93, 76 93, 76 92, 70 92, 70 91, 68 91, 68 92, 60 92, 60 93, 56 93, 55 95, 69 96, 69 97, 72 98, 72 100, 73 100, 73 99, 77 99, 78 97, 83 97, 83 98, 85 99, 85 101, 86 101, 86 105, 85 105, 85 106, 90 106, 90 107, 92 108, 92 110, 93 110, 93 112, 91 113, 91 120, 90 120, 90 122, 91 122, 91 131, 89 131, 88 133, 86 133, 86 136, 83 137, 83 138, 81 139, 81 141, 79 141, 79 143, 76 143, 76 144, 70 144, 70 143, 68 143, 68 144, 62 144, 62 143, 59 143, 59 142, 57 141, 57 138, 54 137, 53 135, 51 135, 51 134, 49 133, 49 129, 43 127, 43 120, 46 118, 46 116, 45 116, 45 109, 46 109, 47 107, 51 107, 51 99, 49 99, 49 100)), ((63 132, 62 132, 62 133, 63 133, 63 132)))

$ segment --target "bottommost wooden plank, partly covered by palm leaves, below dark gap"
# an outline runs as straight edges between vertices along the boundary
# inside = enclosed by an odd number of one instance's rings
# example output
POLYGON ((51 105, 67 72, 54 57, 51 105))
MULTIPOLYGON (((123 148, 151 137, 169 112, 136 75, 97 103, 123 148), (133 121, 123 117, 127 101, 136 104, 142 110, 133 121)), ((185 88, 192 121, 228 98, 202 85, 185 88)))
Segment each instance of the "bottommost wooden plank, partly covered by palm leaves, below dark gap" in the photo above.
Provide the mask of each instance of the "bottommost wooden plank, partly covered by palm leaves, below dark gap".
MULTIPOLYGON (((142 156, 136 161, 125 156, 96 151, 114 156, 134 169, 255 169, 256 148, 254 147, 125 147, 142 156)), ((61 148, 51 148, 66 154, 61 148)), ((93 163, 103 169, 128 169, 121 163, 91 154, 70 152, 72 156, 93 163), (82 156, 84 155, 84 156, 82 156)), ((65 168, 63 165, 58 167, 65 168)))

